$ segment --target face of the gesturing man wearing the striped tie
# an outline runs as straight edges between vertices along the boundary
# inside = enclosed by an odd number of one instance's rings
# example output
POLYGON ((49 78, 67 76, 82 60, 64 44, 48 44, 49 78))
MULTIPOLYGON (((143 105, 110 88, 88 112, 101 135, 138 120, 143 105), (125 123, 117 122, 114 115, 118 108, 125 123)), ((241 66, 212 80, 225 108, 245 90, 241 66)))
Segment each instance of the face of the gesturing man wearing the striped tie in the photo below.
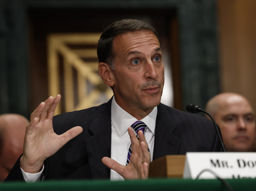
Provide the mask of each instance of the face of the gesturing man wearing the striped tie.
MULTIPOLYGON (((148 114, 160 103, 164 66, 160 43, 151 31, 128 32, 113 40, 113 92, 130 114, 148 114)), ((135 117, 135 116, 134 116, 135 117)))

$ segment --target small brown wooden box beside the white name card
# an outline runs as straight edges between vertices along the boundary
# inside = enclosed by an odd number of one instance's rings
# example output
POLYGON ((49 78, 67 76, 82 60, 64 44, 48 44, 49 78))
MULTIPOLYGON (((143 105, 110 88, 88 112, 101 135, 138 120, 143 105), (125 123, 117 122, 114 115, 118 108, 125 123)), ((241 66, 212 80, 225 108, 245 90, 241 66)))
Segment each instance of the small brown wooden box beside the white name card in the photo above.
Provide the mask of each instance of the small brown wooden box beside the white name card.
POLYGON ((149 165, 148 177, 182 178, 186 155, 167 155, 149 165))

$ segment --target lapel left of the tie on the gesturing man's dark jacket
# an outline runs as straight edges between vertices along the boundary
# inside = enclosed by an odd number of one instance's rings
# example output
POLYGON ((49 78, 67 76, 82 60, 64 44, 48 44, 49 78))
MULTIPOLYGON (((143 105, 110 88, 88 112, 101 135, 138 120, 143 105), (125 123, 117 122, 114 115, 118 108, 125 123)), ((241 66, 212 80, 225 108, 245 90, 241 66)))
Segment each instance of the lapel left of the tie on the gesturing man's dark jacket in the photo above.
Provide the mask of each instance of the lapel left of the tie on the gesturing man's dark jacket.
POLYGON ((93 135, 85 141, 93 179, 110 178, 110 169, 102 158, 111 157, 111 101, 97 112, 89 126, 93 135))

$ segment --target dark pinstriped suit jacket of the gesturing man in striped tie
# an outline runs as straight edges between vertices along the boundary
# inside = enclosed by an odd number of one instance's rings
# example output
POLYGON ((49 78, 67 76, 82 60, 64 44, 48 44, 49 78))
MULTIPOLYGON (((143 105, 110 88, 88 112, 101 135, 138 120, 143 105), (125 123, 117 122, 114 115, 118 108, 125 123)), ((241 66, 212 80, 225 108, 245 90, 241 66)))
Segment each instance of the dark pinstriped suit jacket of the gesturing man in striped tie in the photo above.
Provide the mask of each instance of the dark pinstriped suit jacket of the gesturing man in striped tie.
MULTIPOLYGON (((110 169, 101 160, 111 157, 111 101, 53 118, 57 134, 74 126, 81 126, 83 132, 45 161, 45 180, 110 178, 110 169)), ((212 121, 160 103, 153 160, 194 151, 222 151, 212 121)), ((23 180, 19 160, 6 178, 8 180, 23 180)))

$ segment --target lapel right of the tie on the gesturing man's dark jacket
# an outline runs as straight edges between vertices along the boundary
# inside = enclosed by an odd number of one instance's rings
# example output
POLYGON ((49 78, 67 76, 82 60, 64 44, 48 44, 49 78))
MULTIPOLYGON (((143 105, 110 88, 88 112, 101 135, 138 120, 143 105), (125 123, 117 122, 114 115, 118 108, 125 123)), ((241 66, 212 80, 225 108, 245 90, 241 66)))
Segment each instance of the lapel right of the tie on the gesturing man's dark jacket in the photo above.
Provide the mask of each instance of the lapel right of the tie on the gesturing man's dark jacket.
POLYGON ((178 154, 180 139, 173 134, 176 124, 166 107, 160 103, 157 107, 153 160, 170 154, 178 154))

